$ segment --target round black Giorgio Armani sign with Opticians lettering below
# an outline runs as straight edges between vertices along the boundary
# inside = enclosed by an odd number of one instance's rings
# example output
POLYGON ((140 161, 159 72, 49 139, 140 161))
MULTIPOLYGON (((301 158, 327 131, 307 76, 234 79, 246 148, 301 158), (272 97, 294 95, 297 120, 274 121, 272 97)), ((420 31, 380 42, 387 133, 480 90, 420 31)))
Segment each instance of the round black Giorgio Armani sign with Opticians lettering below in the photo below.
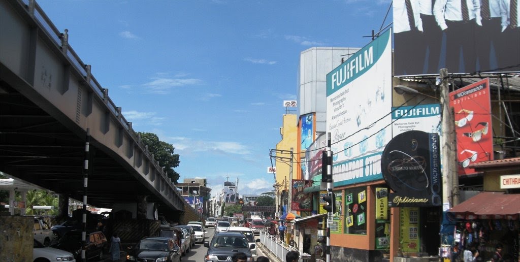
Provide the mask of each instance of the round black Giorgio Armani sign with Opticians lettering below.
POLYGON ((411 130, 395 136, 383 151, 381 171, 394 191, 390 207, 442 204, 439 135, 411 130))

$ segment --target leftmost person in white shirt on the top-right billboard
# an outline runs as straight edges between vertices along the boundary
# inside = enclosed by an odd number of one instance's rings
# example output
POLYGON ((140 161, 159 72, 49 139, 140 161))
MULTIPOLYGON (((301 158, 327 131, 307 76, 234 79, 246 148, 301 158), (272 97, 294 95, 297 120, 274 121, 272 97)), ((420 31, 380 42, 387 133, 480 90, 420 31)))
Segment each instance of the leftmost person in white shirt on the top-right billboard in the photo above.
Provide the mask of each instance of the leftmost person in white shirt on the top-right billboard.
POLYGON ((394 8, 395 75, 422 74, 424 43, 419 2, 396 0, 394 8), (411 10, 410 10, 411 9, 411 10))

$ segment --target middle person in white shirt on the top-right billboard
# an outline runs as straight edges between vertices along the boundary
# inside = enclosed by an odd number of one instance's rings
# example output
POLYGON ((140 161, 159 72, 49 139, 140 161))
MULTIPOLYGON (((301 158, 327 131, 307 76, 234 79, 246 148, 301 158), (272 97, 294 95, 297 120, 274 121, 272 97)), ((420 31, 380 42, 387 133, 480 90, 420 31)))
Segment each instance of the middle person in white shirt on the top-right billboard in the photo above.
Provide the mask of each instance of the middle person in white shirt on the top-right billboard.
POLYGON ((436 0, 433 15, 440 29, 446 32, 448 71, 475 72, 475 27, 482 26, 480 0, 436 0))

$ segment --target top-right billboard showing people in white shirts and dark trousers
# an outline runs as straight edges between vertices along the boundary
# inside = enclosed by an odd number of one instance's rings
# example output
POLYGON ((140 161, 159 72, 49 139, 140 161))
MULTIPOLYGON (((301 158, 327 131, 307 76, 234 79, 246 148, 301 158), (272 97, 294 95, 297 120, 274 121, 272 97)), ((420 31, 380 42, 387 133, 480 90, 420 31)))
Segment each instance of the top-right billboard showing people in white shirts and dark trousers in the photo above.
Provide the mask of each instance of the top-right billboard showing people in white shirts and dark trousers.
POLYGON ((393 1, 394 74, 520 71, 518 2, 393 1))

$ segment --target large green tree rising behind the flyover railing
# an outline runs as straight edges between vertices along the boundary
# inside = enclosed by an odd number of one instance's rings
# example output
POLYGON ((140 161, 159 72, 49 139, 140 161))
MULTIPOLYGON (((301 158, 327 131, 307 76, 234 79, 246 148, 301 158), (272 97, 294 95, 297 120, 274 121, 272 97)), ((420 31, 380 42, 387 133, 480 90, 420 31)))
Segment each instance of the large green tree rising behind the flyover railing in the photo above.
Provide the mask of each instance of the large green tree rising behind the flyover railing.
POLYGON ((159 161, 159 165, 164 167, 164 172, 170 177, 172 182, 177 185, 179 174, 173 168, 179 166, 179 154, 175 154, 173 145, 159 140, 159 137, 153 133, 138 132, 141 141, 148 146, 148 151, 154 155, 155 160, 159 161))

